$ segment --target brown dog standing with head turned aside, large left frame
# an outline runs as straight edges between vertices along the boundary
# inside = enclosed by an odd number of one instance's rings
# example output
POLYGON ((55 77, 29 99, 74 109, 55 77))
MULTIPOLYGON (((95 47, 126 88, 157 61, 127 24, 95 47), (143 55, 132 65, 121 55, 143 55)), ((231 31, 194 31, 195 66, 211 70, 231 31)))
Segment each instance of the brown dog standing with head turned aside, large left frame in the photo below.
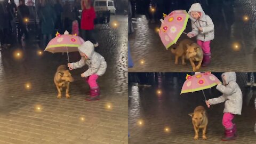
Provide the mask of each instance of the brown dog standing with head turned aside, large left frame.
POLYGON ((68 93, 69 83, 73 81, 74 78, 69 73, 69 70, 67 70, 67 67, 65 65, 60 65, 54 76, 54 83, 58 90, 58 99, 61 98, 61 91, 64 87, 66 87, 66 98, 70 98, 70 95, 68 93))

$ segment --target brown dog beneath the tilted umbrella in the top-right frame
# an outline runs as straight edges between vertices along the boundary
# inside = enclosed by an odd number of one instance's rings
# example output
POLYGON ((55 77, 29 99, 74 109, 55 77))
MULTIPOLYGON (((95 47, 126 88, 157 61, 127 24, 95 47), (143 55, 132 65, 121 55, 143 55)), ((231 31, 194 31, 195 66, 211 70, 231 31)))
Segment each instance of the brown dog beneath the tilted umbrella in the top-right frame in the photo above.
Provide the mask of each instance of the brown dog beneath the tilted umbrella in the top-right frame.
POLYGON ((185 58, 189 59, 193 71, 199 70, 203 61, 204 53, 202 48, 191 41, 190 39, 183 39, 177 48, 173 47, 171 52, 175 54, 175 64, 178 65, 178 59, 181 57, 182 65, 186 65, 185 58), (195 66, 195 61, 198 61, 198 65, 195 66))

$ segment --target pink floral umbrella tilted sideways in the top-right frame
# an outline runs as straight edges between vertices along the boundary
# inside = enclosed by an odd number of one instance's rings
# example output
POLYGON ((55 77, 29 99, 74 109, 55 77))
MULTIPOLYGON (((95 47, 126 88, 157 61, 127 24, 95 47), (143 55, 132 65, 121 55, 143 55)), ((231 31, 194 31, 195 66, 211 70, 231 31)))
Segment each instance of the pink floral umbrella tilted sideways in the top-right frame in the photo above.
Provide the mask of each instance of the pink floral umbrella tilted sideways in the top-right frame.
POLYGON ((164 14, 164 20, 159 29, 159 36, 166 49, 176 43, 186 29, 189 15, 185 10, 175 10, 170 14, 164 14))

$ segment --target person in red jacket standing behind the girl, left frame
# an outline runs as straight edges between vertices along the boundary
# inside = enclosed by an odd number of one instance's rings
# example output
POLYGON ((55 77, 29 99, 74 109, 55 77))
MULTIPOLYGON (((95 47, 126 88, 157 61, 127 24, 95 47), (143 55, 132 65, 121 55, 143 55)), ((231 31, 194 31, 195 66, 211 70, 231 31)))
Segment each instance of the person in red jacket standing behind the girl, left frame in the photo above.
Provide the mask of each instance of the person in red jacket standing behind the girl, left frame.
POLYGON ((81 29, 82 37, 84 41, 91 41, 94 44, 94 47, 99 46, 99 43, 95 40, 94 35, 94 19, 96 14, 94 8, 91 6, 90 0, 82 0, 82 20, 81 20, 81 29))

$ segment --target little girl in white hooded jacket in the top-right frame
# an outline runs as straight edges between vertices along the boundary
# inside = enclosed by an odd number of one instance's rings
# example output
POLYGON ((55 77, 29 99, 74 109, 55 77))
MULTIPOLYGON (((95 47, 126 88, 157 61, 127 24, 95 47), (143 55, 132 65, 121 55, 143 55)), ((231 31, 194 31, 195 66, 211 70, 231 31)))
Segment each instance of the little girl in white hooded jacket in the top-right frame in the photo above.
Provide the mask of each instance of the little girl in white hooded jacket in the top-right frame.
POLYGON ((208 66, 211 62, 211 40, 214 39, 214 25, 209 15, 206 15, 201 4, 191 5, 188 14, 192 23, 192 31, 187 34, 188 37, 197 36, 197 44, 204 52, 202 66, 208 66))

